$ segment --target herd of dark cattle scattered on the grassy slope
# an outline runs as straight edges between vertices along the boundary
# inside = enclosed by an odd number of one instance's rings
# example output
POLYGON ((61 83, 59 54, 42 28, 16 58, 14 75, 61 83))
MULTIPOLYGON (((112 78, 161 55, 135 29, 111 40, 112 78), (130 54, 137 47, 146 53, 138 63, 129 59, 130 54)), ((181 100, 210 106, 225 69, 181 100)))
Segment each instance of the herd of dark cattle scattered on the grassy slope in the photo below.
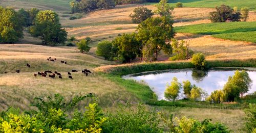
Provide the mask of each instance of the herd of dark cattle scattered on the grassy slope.
MULTIPOLYGON (((52 61, 52 62, 57 61, 56 58, 51 59, 51 57, 47 58, 47 60, 48 60, 48 61, 52 61)), ((67 64, 66 61, 60 61, 60 62, 61 62, 61 63, 64 63, 64 64, 67 64)), ((30 68, 30 65, 29 65, 28 63, 27 63, 27 67, 30 68)), ((20 70, 16 70, 15 72, 19 73, 20 70)), ((72 72, 78 72, 78 71, 77 71, 77 70, 72 70, 72 72)), ((5 73, 7 73, 7 72, 5 72, 5 73)), ((14 72, 12 72, 12 73, 14 73, 14 72)), ((82 73, 85 74, 86 76, 88 76, 89 73, 92 73, 92 72, 91 72, 90 70, 84 69, 84 70, 82 70, 82 73)), ((58 77, 58 78, 62 79, 61 73, 59 73, 59 72, 57 72, 57 71, 52 72, 52 71, 50 71, 50 70, 47 70, 47 71, 44 71, 44 72, 37 72, 37 74, 34 73, 34 76, 35 76, 35 77, 36 77, 36 76, 39 76, 39 75, 42 76, 42 77, 47 77, 47 75, 48 75, 48 76, 51 77, 51 78, 55 78, 55 75, 56 75, 56 78, 58 77)), ((72 75, 71 75, 71 72, 68 72, 68 76, 69 76, 70 79, 73 79, 73 77, 72 77, 72 75)))

